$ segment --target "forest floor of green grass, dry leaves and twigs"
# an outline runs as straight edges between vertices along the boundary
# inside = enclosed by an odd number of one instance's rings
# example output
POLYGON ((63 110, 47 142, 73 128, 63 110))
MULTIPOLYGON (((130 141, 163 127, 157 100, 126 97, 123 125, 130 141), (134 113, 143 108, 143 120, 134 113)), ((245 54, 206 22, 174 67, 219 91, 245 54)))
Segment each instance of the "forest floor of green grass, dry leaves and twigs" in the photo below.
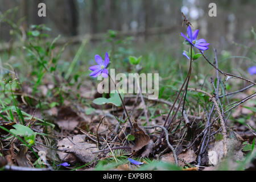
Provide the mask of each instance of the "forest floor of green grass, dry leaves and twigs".
MULTIPOLYGON (((170 56, 163 43, 134 46, 130 37, 119 39, 109 31, 97 46, 85 38, 79 47, 55 47, 58 38, 43 43, 43 31, 47 27, 32 27, 22 47, 1 53, 1 169, 255 170, 255 85, 238 78, 225 81, 200 57, 193 62, 181 114, 183 100, 174 102, 189 61, 170 56), (158 99, 124 94, 127 117, 115 103, 116 94, 98 93, 100 81, 89 77, 89 66, 106 50, 116 72, 159 73, 158 99), (133 55, 142 55, 141 68, 130 64, 133 55), (114 104, 95 101, 115 96, 114 104)), ((242 57, 209 51, 222 71, 256 80, 242 57), (231 60, 228 66, 226 60, 231 60)), ((255 52, 247 56, 255 60, 255 52)))

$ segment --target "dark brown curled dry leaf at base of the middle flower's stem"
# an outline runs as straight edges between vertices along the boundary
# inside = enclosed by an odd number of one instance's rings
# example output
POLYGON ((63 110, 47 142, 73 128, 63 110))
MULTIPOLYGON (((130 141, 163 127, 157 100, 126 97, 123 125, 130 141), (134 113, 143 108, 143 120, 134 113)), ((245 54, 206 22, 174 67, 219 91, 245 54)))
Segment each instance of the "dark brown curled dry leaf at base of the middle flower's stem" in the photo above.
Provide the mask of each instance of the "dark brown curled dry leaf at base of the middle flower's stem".
POLYGON ((141 150, 142 147, 146 146, 150 142, 150 137, 146 133, 144 133, 144 131, 138 126, 137 123, 133 124, 131 134, 135 137, 135 145, 131 147, 132 152, 137 152, 141 150))

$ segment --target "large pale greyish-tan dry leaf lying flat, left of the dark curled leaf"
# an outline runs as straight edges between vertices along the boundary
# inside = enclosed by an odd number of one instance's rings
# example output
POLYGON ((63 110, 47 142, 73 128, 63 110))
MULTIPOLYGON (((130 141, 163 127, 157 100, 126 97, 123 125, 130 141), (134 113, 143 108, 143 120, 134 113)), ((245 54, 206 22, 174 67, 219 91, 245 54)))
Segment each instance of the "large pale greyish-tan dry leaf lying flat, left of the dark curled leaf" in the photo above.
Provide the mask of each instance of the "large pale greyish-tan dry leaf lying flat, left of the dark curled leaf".
POLYGON ((96 144, 85 142, 85 135, 75 135, 69 139, 64 138, 57 143, 57 148, 65 151, 57 152, 57 154, 61 160, 68 163, 75 162, 76 158, 80 159, 81 162, 89 163, 96 156, 93 152, 97 152, 96 144))

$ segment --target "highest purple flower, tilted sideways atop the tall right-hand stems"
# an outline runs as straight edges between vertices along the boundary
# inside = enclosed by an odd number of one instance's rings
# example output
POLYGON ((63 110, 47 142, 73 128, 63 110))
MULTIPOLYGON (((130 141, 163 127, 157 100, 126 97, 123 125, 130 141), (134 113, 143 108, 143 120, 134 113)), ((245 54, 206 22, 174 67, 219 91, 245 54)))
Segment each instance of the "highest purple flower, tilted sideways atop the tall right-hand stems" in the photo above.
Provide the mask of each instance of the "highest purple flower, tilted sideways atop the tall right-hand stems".
POLYGON ((210 44, 207 43, 205 39, 196 40, 198 32, 199 32, 199 30, 192 32, 191 27, 188 26, 188 28, 187 28, 188 37, 185 36, 182 32, 180 32, 180 35, 183 36, 192 46, 195 46, 196 48, 198 48, 202 51, 205 51, 205 50, 209 49, 208 46, 210 44))

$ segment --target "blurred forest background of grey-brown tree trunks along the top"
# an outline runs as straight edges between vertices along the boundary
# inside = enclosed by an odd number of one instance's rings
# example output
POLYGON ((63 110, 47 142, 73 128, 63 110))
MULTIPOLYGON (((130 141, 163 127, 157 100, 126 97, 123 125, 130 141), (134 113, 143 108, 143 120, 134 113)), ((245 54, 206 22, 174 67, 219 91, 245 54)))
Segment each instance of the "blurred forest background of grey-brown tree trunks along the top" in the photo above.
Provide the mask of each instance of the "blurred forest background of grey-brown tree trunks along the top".
MULTIPOLYGON (((201 36, 222 48, 233 40, 240 42, 250 36, 256 15, 254 0, 0 0, 0 3, 2 13, 19 7, 16 18, 24 18, 24 28, 44 23, 52 28, 53 36, 96 34, 112 29, 144 32, 146 38, 148 31, 154 35, 168 34, 168 41, 175 41, 182 30, 180 12, 183 11, 195 28, 200 29, 201 36), (46 18, 37 15, 40 2, 46 3, 46 18), (217 5, 216 17, 208 16, 211 2, 217 5), (151 29, 156 27, 159 29, 151 29)), ((0 27, 0 39, 9 41, 11 27, 3 22, 0 27)))

